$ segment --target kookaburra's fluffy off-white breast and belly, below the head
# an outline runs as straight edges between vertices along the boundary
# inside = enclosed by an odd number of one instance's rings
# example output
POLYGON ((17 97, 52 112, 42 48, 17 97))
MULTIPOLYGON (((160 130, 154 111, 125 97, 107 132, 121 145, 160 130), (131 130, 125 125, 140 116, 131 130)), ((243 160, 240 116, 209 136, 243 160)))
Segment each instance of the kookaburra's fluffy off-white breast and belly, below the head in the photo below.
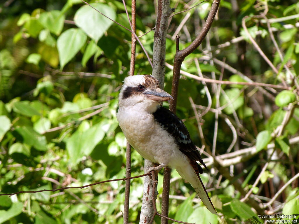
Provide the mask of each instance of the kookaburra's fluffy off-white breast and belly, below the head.
POLYGON ((119 108, 117 119, 123 134, 132 147, 145 159, 174 167, 187 159, 168 134, 150 113, 140 108, 119 108))

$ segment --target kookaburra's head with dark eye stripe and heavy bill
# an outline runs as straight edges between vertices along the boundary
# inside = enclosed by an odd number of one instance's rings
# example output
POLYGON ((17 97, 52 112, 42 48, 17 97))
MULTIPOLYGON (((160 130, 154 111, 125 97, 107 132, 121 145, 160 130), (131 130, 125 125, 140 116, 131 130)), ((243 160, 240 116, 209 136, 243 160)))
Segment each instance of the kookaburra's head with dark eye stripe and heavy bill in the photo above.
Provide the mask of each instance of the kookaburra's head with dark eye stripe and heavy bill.
POLYGON ((128 76, 120 90, 119 106, 140 105, 142 108, 155 109, 161 101, 173 97, 160 88, 159 82, 151 75, 128 76))

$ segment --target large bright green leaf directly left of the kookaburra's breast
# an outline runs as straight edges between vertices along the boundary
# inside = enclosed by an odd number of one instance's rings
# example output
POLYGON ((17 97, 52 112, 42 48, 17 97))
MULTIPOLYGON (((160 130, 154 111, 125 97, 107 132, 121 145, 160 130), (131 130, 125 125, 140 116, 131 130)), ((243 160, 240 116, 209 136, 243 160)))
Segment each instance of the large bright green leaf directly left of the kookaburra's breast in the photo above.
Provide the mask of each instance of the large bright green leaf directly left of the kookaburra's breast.
POLYGON ((89 156, 104 135, 100 124, 94 125, 87 131, 76 131, 66 142, 70 164, 76 165, 83 156, 89 156))

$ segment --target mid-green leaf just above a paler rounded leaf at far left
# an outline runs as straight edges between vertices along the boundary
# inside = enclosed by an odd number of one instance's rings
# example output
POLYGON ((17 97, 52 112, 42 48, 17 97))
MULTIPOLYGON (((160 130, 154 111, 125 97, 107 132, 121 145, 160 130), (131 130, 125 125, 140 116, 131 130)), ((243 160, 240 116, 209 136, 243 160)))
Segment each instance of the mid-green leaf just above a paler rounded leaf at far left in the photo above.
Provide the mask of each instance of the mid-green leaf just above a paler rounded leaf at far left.
MULTIPOLYGON (((29 146, 34 146, 39 151, 46 151, 47 140, 45 136, 36 133, 32 127, 22 126, 16 128, 15 131, 21 136, 22 142, 29 146)), ((17 136, 18 138, 18 136, 17 136)))

